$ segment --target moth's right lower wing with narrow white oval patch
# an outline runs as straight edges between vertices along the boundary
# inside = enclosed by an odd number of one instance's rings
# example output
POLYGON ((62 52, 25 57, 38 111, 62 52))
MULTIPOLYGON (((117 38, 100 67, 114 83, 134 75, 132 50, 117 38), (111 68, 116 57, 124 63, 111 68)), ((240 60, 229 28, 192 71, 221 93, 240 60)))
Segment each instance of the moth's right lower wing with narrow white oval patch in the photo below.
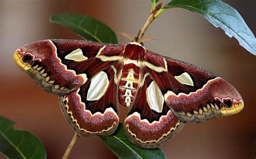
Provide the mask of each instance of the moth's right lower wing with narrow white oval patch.
POLYGON ((127 138, 144 148, 154 148, 171 139, 184 126, 161 99, 152 77, 141 74, 139 89, 124 122, 127 138), (154 96, 154 98, 151 98, 154 96))

